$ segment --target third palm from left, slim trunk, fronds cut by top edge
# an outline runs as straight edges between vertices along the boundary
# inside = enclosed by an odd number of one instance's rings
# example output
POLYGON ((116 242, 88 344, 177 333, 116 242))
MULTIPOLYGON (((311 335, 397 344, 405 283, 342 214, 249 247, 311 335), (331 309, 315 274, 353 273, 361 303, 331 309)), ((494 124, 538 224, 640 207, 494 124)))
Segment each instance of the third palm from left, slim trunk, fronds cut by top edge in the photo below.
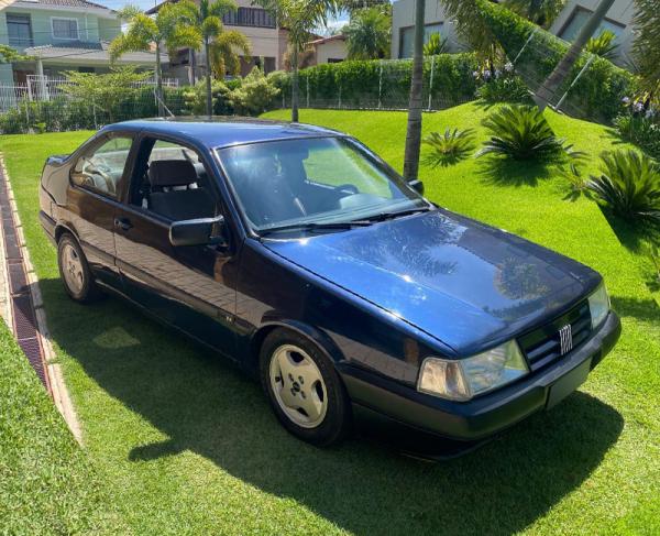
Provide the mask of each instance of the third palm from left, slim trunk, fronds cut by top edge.
POLYGON ((277 23, 288 30, 292 45, 292 121, 298 121, 298 54, 305 50, 312 32, 326 26, 328 17, 344 7, 342 0, 255 0, 273 13, 277 23))

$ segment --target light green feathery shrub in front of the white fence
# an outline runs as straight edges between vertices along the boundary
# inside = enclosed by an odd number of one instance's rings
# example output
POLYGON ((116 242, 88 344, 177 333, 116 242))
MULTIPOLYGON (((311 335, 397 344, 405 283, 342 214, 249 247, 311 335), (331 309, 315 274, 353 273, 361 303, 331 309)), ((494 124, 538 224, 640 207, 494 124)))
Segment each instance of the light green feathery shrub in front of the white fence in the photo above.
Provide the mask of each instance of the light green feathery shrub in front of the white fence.
POLYGON ((65 84, 63 90, 78 102, 92 103, 105 111, 110 121, 121 102, 136 94, 139 84, 146 80, 151 73, 136 73, 134 67, 113 67, 110 73, 97 75, 67 70, 64 76, 72 84, 65 84))

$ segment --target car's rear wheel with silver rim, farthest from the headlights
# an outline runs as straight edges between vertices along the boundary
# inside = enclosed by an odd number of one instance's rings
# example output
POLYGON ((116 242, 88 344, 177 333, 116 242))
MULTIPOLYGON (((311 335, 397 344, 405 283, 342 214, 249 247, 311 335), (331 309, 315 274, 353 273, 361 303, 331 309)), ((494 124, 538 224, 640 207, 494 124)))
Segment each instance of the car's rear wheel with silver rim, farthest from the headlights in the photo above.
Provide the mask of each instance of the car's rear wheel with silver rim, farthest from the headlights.
POLYGON ((80 244, 68 232, 57 242, 57 265, 64 289, 74 302, 89 304, 101 297, 80 244))

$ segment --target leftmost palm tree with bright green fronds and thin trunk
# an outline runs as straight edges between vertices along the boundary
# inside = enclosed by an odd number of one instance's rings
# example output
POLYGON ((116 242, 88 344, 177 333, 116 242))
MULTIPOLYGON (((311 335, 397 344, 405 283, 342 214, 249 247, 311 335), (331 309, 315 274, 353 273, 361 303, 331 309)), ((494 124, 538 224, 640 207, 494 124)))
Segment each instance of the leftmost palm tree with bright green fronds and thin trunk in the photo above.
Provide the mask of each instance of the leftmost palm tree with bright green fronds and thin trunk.
POLYGON ((160 116, 164 113, 161 47, 165 46, 170 52, 182 46, 195 47, 199 40, 195 31, 179 24, 183 15, 183 9, 177 3, 163 6, 154 18, 148 17, 134 6, 127 6, 119 12, 119 18, 127 21, 129 28, 125 33, 118 35, 110 43, 111 62, 129 52, 152 52, 152 50, 155 50, 154 78, 156 79, 160 116))

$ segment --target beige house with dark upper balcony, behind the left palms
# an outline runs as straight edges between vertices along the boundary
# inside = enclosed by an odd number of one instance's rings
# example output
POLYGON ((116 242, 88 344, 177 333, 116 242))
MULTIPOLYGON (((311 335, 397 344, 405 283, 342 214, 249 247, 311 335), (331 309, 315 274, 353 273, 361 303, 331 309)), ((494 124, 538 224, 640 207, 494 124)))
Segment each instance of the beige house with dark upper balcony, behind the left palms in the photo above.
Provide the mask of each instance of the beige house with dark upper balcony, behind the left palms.
MULTIPOLYGON (((148 11, 156 13, 166 0, 148 11)), ((194 0, 199 3, 198 0, 194 0)), ((287 50, 288 32, 278 26, 275 18, 265 9, 252 6, 252 0, 237 0, 239 9, 222 17, 224 30, 235 30, 248 37, 252 45, 250 58, 241 56, 241 76, 249 74, 254 66, 264 73, 284 69, 284 56, 287 50)), ((169 75, 179 79, 194 80, 206 76, 204 51, 193 53, 188 48, 179 50, 170 58, 169 75)))

